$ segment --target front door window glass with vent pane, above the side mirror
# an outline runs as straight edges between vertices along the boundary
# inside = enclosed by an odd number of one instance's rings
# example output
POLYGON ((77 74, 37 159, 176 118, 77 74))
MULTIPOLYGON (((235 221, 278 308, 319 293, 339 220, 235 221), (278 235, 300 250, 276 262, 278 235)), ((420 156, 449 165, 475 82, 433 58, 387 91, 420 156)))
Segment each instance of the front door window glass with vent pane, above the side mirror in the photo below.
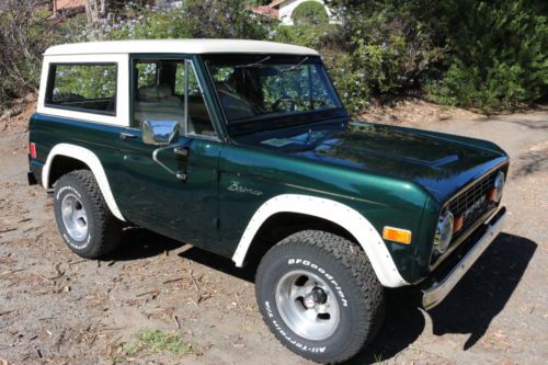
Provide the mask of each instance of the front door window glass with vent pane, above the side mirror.
POLYGON ((187 123, 190 135, 217 135, 192 62, 142 59, 134 61, 133 72, 135 127, 151 119, 178 121, 187 123))

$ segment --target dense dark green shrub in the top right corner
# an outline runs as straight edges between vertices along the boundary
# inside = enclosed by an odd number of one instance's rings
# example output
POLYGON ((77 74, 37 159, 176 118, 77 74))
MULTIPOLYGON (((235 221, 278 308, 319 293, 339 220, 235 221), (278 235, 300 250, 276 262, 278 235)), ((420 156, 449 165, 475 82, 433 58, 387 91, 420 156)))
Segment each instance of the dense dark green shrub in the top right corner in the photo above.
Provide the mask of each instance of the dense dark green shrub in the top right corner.
MULTIPOLYGON (((448 1, 445 20, 452 55, 426 90, 435 102, 512 111, 548 95, 548 16, 520 1, 448 1)), ((546 7, 544 7, 546 10, 546 7)))

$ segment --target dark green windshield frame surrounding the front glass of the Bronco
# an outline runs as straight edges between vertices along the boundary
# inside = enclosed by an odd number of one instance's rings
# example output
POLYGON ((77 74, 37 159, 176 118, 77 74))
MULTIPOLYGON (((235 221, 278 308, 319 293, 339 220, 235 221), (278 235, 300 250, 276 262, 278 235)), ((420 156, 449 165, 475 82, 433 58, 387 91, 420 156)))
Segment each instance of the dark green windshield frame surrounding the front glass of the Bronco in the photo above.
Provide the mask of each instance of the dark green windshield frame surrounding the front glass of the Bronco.
POLYGON ((304 124, 312 124, 312 123, 322 123, 330 119, 340 119, 347 118, 349 113, 342 103, 342 100, 336 91, 333 82, 327 72, 326 66, 320 56, 317 55, 287 55, 287 54, 204 54, 201 55, 202 62, 206 70, 206 75, 208 77, 208 81, 210 87, 213 88, 213 98, 216 103, 219 105, 219 111, 222 114, 224 124, 227 128, 227 132, 231 136, 238 136, 249 133, 263 132, 263 130, 272 130, 292 126, 298 126, 304 124), (264 60, 269 57, 266 60, 264 60), (214 77, 210 71, 210 64, 216 60, 222 60, 227 64, 231 65, 247 65, 252 64, 249 62, 250 58, 254 61, 264 61, 265 65, 295 65, 300 66, 315 64, 322 68, 324 76, 326 87, 332 93, 335 102, 340 105, 336 107, 324 109, 324 110, 313 110, 313 111, 301 111, 301 112, 293 112, 290 114, 263 114, 254 117, 244 118, 241 121, 230 122, 226 115, 225 105, 222 104, 218 90, 214 80, 214 77), (302 60, 306 58, 306 61, 302 60), (248 60, 248 61, 247 61, 248 60), (258 122, 261 123, 258 123, 258 122))

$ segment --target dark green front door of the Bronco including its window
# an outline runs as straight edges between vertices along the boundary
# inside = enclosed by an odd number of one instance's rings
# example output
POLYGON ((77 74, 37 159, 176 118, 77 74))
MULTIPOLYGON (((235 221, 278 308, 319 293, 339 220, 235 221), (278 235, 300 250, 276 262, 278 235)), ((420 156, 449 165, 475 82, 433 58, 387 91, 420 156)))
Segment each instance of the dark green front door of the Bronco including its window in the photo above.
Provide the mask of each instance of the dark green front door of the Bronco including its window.
POLYGON ((121 134, 117 203, 130 223, 215 248, 222 144, 193 64, 184 58, 142 56, 134 57, 130 67, 132 128, 121 134), (145 144, 140 130, 145 121, 178 121, 179 139, 170 146, 145 144))

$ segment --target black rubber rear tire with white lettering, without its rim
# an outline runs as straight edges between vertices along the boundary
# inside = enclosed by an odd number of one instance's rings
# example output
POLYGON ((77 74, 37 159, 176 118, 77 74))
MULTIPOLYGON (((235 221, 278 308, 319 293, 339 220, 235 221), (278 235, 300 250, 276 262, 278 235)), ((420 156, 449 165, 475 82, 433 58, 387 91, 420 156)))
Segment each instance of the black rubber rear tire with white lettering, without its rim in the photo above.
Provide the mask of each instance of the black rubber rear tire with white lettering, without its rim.
POLYGON ((57 227, 70 250, 84 259, 101 259, 119 244, 122 223, 113 216, 90 170, 62 175, 55 184, 54 210, 57 227), (67 194, 77 196, 87 214, 88 232, 76 240, 68 232, 61 216, 61 202, 67 194))

